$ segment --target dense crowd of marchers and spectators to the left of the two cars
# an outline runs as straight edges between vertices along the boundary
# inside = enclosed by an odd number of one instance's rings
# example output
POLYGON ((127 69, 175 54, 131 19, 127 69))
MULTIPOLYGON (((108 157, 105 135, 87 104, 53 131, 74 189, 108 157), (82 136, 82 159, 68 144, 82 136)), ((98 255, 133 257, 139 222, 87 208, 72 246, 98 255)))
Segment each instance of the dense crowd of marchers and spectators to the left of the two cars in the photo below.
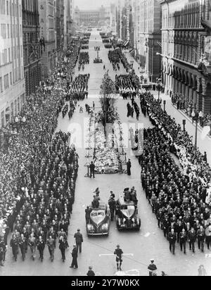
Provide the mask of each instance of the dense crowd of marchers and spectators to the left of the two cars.
POLYGON ((68 93, 67 77, 78 53, 75 44, 68 63, 61 63, 51 74, 51 89, 46 91, 42 82, 27 99, 18 123, 12 120, 1 129, 0 220, 5 227, 0 239, 1 265, 9 245, 15 260, 18 248, 25 260, 27 246, 33 259, 37 248, 43 260, 45 244, 53 260, 57 237, 62 253, 67 246, 65 234, 74 202, 78 156, 74 148, 69 148, 70 135, 53 134, 68 93), (26 122, 21 121, 23 117, 26 122), (13 233, 10 243, 9 232, 13 233))

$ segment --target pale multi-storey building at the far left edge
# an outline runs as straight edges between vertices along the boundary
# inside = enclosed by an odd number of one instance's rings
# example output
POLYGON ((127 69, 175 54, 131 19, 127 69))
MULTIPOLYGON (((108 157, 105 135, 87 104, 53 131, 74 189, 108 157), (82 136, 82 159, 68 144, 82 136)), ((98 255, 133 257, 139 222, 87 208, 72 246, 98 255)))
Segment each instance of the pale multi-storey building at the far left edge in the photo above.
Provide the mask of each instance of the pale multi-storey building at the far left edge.
POLYGON ((22 1, 0 1, 0 126, 25 103, 22 1))

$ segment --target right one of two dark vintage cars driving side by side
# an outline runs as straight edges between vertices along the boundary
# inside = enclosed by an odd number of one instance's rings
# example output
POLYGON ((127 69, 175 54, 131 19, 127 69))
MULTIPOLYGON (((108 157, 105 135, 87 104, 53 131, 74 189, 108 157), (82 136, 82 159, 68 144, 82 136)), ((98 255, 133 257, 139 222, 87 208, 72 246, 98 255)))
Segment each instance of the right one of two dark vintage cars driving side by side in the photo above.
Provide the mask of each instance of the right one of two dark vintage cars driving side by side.
POLYGON ((123 195, 120 195, 116 203, 116 223, 119 231, 123 229, 139 231, 141 227, 136 204, 134 201, 125 201, 123 195))

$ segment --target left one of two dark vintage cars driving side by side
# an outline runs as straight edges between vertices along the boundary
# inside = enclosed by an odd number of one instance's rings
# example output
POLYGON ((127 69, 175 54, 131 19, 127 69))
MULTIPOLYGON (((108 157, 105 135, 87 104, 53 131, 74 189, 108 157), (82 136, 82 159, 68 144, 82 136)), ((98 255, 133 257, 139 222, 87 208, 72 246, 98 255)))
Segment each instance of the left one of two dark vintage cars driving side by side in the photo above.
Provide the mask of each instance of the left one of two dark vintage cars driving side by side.
POLYGON ((107 236, 110 228, 110 211, 106 203, 100 201, 98 208, 91 207, 87 234, 89 236, 107 236))

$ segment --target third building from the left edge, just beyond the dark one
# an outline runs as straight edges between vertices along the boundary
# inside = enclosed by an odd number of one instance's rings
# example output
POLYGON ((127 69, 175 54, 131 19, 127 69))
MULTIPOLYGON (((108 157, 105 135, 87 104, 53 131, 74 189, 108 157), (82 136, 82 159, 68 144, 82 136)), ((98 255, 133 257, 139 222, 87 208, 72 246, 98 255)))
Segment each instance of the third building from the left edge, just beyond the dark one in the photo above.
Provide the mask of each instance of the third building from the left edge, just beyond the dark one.
POLYGON ((41 77, 46 80, 56 65, 56 6, 54 0, 39 0, 41 77))

